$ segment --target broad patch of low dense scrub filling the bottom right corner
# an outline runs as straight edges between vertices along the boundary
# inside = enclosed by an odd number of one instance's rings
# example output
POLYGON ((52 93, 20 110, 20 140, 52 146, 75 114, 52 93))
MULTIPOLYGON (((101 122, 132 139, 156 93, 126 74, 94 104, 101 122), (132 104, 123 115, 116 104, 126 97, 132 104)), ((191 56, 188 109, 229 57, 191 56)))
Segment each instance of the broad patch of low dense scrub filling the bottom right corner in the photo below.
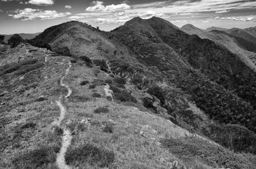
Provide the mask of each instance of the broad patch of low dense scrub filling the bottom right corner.
POLYGON ((168 138, 162 140, 161 143, 169 149, 170 153, 186 162, 187 168, 194 165, 196 161, 201 161, 212 168, 245 169, 256 167, 241 154, 235 154, 199 138, 168 138))

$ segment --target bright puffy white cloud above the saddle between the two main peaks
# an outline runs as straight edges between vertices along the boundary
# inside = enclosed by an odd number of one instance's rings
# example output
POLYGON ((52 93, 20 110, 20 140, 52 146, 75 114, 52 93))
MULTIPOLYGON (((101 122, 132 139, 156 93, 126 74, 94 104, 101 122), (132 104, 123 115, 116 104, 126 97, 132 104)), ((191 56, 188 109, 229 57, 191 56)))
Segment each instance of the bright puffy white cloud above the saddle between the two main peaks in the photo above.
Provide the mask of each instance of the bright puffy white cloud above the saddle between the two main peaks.
POLYGON ((131 6, 129 6, 126 3, 122 4, 111 4, 104 6, 104 3, 102 1, 93 1, 92 6, 89 6, 86 8, 86 11, 92 11, 92 12, 101 12, 101 11, 120 11, 120 10, 129 10, 131 6))

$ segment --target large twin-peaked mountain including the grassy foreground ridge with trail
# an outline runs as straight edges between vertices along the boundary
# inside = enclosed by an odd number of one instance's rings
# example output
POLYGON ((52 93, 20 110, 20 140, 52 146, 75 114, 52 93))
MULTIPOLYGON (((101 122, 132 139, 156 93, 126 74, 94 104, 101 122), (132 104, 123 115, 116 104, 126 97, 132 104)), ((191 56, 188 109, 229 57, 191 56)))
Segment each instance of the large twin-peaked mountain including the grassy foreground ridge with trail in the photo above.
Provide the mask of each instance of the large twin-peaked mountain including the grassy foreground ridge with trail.
POLYGON ((1 168, 256 168, 255 72, 226 47, 157 17, 29 43, 1 45, 1 168))

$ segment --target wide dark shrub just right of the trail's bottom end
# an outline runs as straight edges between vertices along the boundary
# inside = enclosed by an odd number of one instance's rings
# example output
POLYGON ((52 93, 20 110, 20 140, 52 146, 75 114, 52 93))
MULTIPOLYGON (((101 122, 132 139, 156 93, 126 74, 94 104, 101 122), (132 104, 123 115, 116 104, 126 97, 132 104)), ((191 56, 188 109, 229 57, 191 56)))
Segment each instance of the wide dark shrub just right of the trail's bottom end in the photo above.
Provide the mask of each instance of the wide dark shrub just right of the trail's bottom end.
POLYGON ((65 155, 67 165, 75 165, 76 163, 89 163, 90 165, 99 166, 100 168, 108 167, 113 163, 115 154, 113 151, 100 149, 91 144, 77 147, 76 149, 68 148, 65 155))

